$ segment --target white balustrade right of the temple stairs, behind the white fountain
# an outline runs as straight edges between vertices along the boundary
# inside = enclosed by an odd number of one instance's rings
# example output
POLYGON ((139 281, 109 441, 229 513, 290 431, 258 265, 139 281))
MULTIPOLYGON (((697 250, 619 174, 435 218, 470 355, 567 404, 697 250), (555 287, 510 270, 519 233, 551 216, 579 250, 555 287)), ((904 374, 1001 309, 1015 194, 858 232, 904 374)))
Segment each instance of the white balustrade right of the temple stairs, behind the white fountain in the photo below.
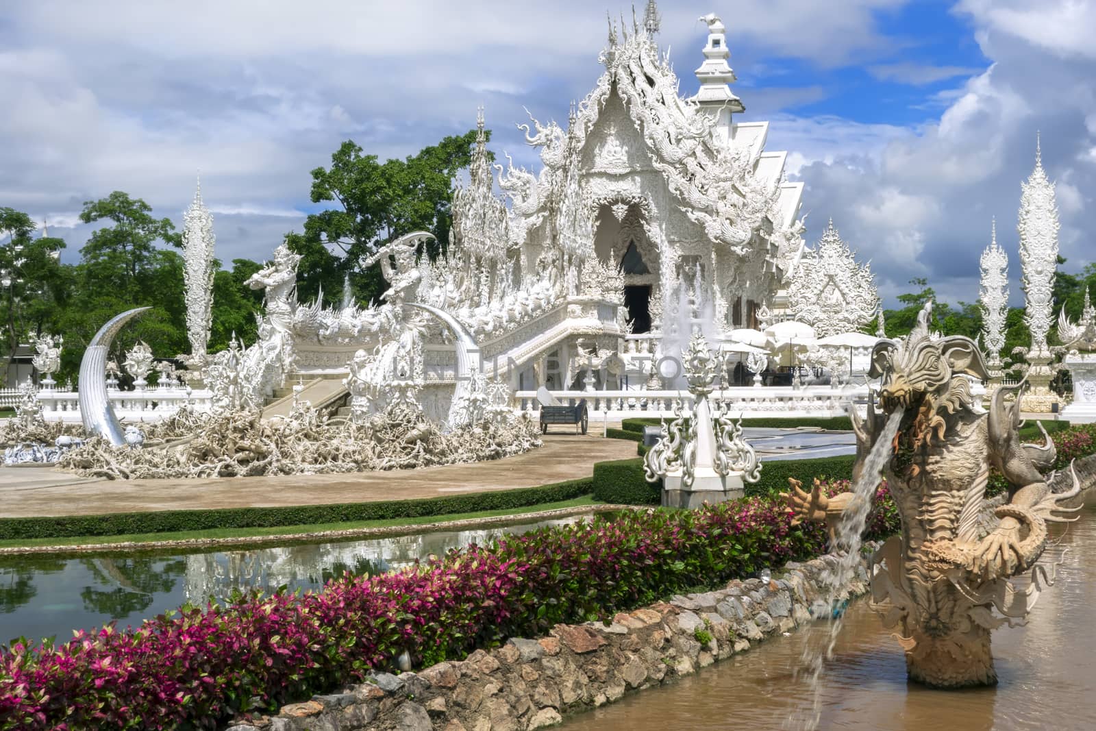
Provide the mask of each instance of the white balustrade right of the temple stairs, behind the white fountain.
MULTIPOLYGON (((592 418, 621 419, 626 416, 669 416, 678 402, 690 402, 693 396, 688 391, 647 390, 647 391, 552 391, 561 403, 575 404, 580 399, 586 400, 586 408, 592 418)), ((711 400, 726 404, 734 416, 739 414, 750 419, 757 416, 843 416, 849 404, 861 404, 867 401, 866 386, 832 388, 830 386, 808 386, 804 388, 768 387, 768 388, 726 388, 713 391, 711 400)), ((513 406, 520 411, 536 412, 539 410, 536 391, 517 391, 514 393, 513 406)))

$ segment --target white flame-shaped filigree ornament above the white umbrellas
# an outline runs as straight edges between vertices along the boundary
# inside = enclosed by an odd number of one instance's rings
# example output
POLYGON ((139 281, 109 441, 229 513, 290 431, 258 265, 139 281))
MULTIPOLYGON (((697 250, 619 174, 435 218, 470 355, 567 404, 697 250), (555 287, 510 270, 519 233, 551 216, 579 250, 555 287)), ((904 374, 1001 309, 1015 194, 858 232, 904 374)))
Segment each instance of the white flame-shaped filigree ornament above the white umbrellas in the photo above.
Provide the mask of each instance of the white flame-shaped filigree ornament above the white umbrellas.
POLYGON ((871 265, 856 263, 833 219, 818 249, 804 253, 796 266, 788 287, 788 307, 792 317, 814 328, 819 338, 856 332, 876 316, 879 292, 871 265))

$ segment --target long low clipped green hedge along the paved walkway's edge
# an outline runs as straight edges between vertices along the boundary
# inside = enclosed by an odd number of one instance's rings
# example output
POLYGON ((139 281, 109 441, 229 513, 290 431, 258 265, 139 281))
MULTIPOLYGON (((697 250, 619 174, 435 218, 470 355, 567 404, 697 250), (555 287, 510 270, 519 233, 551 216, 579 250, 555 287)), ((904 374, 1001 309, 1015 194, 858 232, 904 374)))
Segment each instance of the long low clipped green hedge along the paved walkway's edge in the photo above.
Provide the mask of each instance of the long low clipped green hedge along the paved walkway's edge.
MULTIPOLYGON (((244 480, 247 478, 233 478, 244 480)), ((373 503, 336 503, 290 507, 230 507, 221 510, 115 513, 112 515, 61 515, 56 517, 0 518, 0 538, 75 538, 119 536, 136 533, 208 530, 210 528, 265 528, 350 521, 429 517, 455 513, 527 507, 573 500, 592 492, 589 478, 493 492, 477 492, 423 500, 389 500, 373 503)))

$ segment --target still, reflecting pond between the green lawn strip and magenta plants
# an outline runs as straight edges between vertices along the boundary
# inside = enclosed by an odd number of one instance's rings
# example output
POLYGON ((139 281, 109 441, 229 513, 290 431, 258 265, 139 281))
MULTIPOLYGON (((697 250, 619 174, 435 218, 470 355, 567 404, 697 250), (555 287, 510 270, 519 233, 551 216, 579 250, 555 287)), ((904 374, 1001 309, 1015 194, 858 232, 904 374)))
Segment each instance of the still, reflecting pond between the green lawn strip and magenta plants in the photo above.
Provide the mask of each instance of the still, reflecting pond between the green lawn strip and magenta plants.
POLYGON ((0 557, 0 643, 21 636, 65 640, 73 629, 90 630, 112 620, 119 628, 138 626, 186 602, 224 601, 235 590, 319 589, 344 571, 391 571, 450 548, 583 517, 591 516, 242 550, 0 557))

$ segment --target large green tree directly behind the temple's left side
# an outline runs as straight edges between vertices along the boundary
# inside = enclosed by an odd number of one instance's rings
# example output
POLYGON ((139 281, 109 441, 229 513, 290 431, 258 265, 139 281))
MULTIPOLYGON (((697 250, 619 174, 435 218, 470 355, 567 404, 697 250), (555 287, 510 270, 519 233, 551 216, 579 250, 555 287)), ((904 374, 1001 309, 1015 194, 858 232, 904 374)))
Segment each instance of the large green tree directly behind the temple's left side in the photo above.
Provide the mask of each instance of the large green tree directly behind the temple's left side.
MULTIPOLYGON (((490 136, 490 133, 488 133, 490 136)), ((347 140, 331 156, 330 168, 312 171, 311 199, 335 207, 312 214, 302 233, 286 235, 286 243, 301 254, 297 294, 310 299, 322 289, 328 302, 342 298, 347 273, 359 301, 384 292, 379 264, 359 272, 362 262, 379 245, 411 231, 436 237, 427 254, 449 238, 450 204, 457 172, 471 162, 476 132, 450 136, 403 160, 380 162, 347 140)))

